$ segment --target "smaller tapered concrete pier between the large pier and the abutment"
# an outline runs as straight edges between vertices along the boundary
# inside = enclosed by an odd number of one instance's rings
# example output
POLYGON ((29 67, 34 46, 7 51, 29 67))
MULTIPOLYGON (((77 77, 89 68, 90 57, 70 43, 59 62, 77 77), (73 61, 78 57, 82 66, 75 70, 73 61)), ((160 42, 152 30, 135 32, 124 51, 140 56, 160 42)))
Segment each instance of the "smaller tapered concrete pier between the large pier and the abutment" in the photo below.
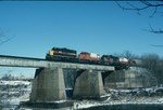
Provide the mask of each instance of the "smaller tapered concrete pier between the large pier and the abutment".
POLYGON ((85 70, 76 79, 74 98, 99 98, 104 94, 100 71, 85 70))

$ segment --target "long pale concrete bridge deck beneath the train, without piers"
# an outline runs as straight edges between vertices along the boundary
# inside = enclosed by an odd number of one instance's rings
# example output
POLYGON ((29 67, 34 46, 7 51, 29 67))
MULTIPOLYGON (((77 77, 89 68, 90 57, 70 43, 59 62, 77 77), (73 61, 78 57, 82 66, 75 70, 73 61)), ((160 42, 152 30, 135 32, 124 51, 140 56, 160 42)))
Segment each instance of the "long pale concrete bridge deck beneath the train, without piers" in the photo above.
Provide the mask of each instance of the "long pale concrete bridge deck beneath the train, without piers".
POLYGON ((27 68, 70 68, 70 69, 96 69, 102 71, 113 71, 113 66, 75 64, 75 63, 60 63, 48 61, 42 58, 18 57, 0 55, 0 66, 5 67, 27 67, 27 68))

